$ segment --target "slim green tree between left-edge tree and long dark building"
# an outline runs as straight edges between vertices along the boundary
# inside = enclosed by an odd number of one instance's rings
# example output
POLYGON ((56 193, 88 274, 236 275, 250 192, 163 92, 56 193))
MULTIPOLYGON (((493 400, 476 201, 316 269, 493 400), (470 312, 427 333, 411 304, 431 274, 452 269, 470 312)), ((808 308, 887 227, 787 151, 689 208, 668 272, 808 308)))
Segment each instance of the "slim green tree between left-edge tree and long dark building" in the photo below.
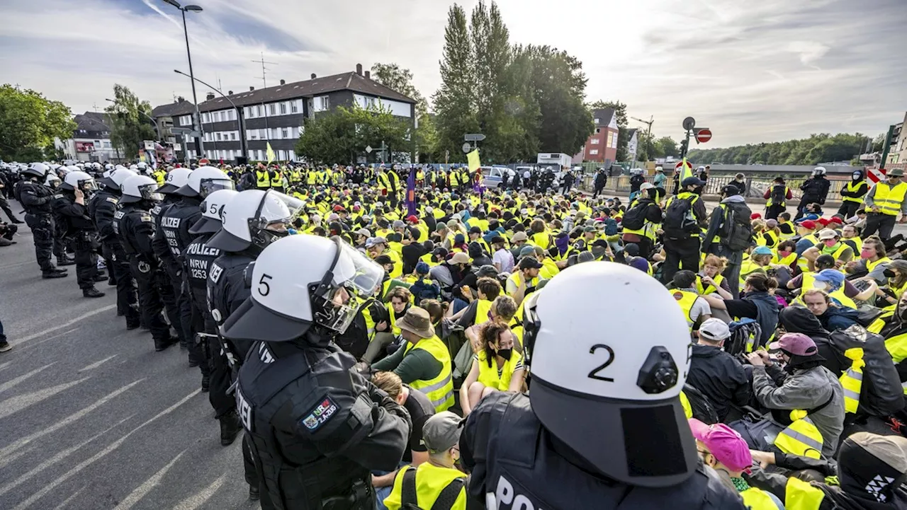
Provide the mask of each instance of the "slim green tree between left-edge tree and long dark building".
POLYGON ((111 118, 111 143, 125 158, 138 158, 144 140, 157 140, 150 119, 151 103, 141 101, 129 87, 113 85, 113 104, 104 111, 111 118))

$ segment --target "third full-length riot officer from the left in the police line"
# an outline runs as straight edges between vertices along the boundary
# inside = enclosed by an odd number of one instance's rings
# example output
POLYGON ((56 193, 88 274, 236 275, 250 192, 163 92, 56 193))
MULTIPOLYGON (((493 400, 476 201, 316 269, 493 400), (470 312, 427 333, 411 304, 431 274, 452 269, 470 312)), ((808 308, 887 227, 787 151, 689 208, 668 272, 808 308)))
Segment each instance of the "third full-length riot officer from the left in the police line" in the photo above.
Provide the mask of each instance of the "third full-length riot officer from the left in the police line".
POLYGON ((103 189, 94 195, 88 204, 94 227, 101 236, 101 246, 107 271, 116 284, 117 314, 125 315, 126 329, 134 330, 140 325, 138 295, 129 269, 129 257, 122 249, 120 239, 113 228, 114 215, 120 208, 122 191, 120 185, 126 178, 138 175, 128 168, 112 170, 98 180, 103 189))

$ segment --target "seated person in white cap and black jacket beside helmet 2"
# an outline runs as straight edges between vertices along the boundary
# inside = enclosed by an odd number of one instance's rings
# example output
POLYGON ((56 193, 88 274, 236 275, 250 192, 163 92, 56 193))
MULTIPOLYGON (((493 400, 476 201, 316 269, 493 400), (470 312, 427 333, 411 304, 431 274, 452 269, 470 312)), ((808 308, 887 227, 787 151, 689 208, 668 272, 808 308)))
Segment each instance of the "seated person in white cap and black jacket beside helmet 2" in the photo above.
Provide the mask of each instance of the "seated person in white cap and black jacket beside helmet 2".
POLYGON ((719 421, 725 421, 732 406, 749 404, 750 386, 743 365, 724 351, 731 332, 720 319, 708 319, 699 327, 689 359, 687 383, 705 395, 719 421))

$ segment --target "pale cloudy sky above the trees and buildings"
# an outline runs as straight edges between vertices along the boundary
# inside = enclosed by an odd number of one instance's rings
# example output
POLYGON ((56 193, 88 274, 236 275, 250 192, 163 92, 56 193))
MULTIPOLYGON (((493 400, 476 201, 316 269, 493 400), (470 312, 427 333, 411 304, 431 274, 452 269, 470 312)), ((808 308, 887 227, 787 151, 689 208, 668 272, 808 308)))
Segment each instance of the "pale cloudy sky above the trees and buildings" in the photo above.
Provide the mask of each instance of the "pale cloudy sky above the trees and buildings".
MULTIPOLYGON (((462 2, 468 10, 477 0, 462 2)), ((196 76, 223 91, 399 63, 430 97, 452 3, 444 0, 195 0, 196 76)), ((691 115, 707 147, 814 132, 875 135, 907 111, 904 0, 501 0, 512 43, 577 56, 587 100, 619 100, 678 139, 691 115)), ((73 112, 114 83, 159 105, 191 98, 180 14, 162 0, 2 0, 0 83, 73 112)), ((206 91, 199 89, 200 100, 206 91)), ((638 122, 631 126, 639 127, 638 122)))

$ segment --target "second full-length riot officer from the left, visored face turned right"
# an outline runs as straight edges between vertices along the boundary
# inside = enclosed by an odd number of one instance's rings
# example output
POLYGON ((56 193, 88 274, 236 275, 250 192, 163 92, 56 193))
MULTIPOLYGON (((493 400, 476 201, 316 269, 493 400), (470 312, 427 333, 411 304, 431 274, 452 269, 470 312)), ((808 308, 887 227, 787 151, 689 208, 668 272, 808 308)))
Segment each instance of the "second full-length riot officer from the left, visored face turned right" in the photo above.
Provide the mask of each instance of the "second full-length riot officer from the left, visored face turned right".
POLYGON ((85 200, 96 190, 92 176, 82 171, 68 172, 51 206, 62 222, 58 230, 64 238, 73 239, 75 277, 84 297, 102 297, 104 293, 94 288, 94 283, 106 278, 98 274, 98 232, 85 206, 85 200))

